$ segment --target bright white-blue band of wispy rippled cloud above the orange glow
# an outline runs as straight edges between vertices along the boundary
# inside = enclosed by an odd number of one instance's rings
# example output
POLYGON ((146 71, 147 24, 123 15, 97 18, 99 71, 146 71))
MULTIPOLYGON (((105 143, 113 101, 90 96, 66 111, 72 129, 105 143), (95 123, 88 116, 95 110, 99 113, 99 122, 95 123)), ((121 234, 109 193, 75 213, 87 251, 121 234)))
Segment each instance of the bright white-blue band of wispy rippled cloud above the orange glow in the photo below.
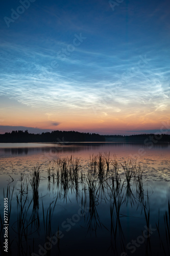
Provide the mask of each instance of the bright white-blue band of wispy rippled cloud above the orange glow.
MULTIPOLYGON (((169 108, 169 84, 164 82, 168 71, 163 72, 155 67, 148 70, 148 63, 143 63, 143 67, 139 68, 135 60, 136 57, 134 60, 131 58, 133 65, 119 61, 113 67, 100 67, 100 63, 96 63, 94 68, 92 65, 89 67, 87 61, 84 62, 87 71, 71 70, 64 74, 61 70, 49 71, 48 67, 40 64, 34 64, 32 70, 34 62, 20 56, 17 62, 22 65, 25 63, 27 68, 23 69, 22 74, 2 73, 0 81, 3 86, 0 93, 15 98, 22 104, 53 109, 55 112, 90 108, 107 111, 116 109, 120 112, 125 111, 127 106, 131 110, 135 106, 138 112, 143 112, 144 109, 147 112, 148 109, 157 111, 169 108), (29 66, 30 63, 32 65, 29 66), (113 73, 114 68, 117 73, 113 73), (100 69, 103 74, 96 76, 95 70, 100 69), (88 73, 87 79, 85 72, 88 73)), ((80 61, 75 60, 75 65, 80 65, 80 61)))

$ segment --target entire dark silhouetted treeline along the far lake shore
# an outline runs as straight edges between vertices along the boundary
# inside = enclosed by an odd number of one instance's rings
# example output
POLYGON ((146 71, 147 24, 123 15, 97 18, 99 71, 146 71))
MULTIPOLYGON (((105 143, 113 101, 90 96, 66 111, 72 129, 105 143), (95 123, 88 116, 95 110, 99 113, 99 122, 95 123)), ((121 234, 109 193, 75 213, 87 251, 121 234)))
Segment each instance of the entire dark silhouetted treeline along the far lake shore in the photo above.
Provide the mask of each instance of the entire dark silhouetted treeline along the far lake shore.
POLYGON ((139 135, 99 135, 95 133, 80 133, 75 131, 53 131, 41 134, 29 133, 28 130, 12 131, 0 134, 1 143, 10 142, 170 142, 167 134, 139 134, 139 135))

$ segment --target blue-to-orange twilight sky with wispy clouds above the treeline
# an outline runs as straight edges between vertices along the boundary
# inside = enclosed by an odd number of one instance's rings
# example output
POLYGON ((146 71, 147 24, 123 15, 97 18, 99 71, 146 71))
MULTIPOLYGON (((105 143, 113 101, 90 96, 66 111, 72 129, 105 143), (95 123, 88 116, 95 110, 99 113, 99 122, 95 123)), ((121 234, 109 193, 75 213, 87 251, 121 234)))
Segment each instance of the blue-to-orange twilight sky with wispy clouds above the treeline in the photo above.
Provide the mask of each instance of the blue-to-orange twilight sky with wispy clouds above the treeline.
POLYGON ((169 1, 1 0, 0 7, 0 133, 165 131, 169 1))

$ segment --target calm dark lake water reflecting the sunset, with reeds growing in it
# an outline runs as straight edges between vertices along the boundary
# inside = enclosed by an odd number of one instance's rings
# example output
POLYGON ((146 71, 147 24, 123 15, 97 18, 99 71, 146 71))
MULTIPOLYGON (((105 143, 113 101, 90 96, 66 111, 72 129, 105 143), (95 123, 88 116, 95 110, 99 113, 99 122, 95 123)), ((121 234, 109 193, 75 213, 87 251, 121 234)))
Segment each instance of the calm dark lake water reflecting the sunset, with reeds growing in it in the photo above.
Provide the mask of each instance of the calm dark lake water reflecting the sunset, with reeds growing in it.
MULTIPOLYGON (((1 143, 2 220, 3 189, 5 197, 8 186, 11 190, 10 255, 161 255, 163 248, 170 255, 170 237, 166 241, 169 220, 164 222, 165 211, 169 216, 169 153, 169 144, 1 143), (109 152, 109 170, 105 166, 101 175, 96 167, 94 174, 90 157, 109 152), (71 156, 74 162, 80 159, 80 166, 66 178, 61 172, 63 162, 56 162, 71 156), (128 183, 122 164, 130 159, 138 176, 128 183), (40 182, 33 189, 30 174, 37 166, 40 182)), ((3 236, 1 230, 1 246, 3 236)))

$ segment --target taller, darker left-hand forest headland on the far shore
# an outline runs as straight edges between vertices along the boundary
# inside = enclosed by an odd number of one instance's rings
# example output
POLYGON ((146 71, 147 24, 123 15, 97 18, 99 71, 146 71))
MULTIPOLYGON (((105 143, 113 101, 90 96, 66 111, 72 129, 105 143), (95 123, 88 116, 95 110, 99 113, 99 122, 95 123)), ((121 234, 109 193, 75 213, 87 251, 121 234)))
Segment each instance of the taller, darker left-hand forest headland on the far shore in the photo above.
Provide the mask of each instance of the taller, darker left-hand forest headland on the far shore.
POLYGON ((51 133, 32 134, 28 131, 12 131, 12 133, 0 134, 0 142, 87 142, 105 141, 105 137, 95 133, 79 133, 53 131, 51 133))

